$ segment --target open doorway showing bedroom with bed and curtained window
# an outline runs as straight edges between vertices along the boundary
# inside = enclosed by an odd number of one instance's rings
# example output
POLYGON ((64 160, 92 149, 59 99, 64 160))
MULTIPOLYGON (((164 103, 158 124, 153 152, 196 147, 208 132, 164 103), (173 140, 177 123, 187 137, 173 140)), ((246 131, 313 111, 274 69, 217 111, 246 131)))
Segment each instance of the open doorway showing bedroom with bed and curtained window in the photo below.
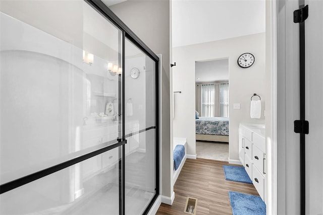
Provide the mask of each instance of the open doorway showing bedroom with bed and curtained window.
POLYGON ((229 58, 195 62, 196 157, 229 160, 229 58))

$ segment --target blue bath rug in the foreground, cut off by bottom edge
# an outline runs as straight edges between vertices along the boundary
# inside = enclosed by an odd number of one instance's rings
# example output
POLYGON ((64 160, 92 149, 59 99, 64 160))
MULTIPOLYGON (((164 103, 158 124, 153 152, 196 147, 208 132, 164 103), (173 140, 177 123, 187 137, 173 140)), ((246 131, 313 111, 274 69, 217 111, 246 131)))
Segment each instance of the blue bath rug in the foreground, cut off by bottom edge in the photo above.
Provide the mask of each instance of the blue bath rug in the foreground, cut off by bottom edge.
POLYGON ((229 191, 233 215, 266 215, 266 204, 260 196, 229 191))

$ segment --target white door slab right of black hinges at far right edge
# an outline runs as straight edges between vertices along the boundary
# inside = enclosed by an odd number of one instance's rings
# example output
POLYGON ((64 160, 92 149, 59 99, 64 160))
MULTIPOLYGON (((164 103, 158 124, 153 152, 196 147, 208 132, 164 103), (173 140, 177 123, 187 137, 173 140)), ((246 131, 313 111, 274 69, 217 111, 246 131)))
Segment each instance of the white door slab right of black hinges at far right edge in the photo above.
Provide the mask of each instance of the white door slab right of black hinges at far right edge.
POLYGON ((323 202, 323 1, 305 0, 306 214, 322 214, 323 202))

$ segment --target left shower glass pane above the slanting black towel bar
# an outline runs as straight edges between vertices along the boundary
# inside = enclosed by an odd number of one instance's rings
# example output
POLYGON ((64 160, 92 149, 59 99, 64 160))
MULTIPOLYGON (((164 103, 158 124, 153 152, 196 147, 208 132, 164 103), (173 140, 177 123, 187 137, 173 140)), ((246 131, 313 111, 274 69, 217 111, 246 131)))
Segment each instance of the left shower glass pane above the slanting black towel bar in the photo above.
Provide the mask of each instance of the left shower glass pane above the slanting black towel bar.
MULTIPOLYGON (((1 184, 116 144, 122 31, 84 1, 0 8, 1 184)), ((82 180, 106 159, 82 164, 82 180)))

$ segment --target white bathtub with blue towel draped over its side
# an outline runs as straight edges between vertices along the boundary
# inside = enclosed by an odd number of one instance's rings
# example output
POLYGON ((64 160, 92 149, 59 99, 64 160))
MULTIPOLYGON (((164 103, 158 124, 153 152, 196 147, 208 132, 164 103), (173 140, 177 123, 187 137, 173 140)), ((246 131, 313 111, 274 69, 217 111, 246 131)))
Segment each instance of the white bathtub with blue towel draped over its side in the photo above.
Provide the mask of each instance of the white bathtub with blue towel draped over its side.
POLYGON ((186 138, 174 137, 173 141, 173 161, 174 161, 174 174, 173 174, 173 183, 175 184, 183 166, 186 161, 186 148, 187 141, 186 138), (184 153, 184 156, 183 156, 184 153), (180 163, 179 163, 180 160, 180 163))

